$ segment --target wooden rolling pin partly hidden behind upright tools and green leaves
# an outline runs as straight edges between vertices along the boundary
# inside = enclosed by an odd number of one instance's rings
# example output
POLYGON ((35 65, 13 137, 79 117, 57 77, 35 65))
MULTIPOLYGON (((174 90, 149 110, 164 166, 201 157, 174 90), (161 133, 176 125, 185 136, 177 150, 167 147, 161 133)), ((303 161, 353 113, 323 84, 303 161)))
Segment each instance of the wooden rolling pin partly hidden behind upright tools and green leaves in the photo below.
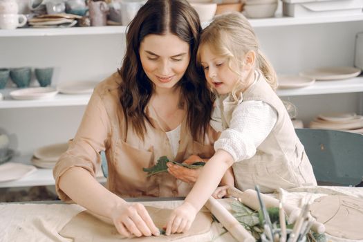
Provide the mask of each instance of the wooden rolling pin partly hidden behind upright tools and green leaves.
MULTIPOLYGON (((241 202, 244 205, 252 208, 252 210, 260 209, 257 192, 252 189, 247 189, 245 190, 245 192, 241 192, 239 189, 236 189, 236 187, 229 187, 227 190, 227 194, 230 196, 234 196, 235 198, 240 198, 241 202)), ((263 203, 265 203, 266 207, 279 207, 279 200, 277 200, 276 198, 272 198, 265 194, 261 194, 261 198, 263 200, 263 203)), ((295 221, 295 219, 297 218, 297 216, 299 216, 301 212, 301 209, 299 207, 295 207, 289 204, 283 204, 283 209, 290 217, 290 221, 295 221)), ((314 221, 313 225, 311 226, 311 230, 317 232, 318 234, 323 234, 325 232, 325 226, 318 221, 314 221)))

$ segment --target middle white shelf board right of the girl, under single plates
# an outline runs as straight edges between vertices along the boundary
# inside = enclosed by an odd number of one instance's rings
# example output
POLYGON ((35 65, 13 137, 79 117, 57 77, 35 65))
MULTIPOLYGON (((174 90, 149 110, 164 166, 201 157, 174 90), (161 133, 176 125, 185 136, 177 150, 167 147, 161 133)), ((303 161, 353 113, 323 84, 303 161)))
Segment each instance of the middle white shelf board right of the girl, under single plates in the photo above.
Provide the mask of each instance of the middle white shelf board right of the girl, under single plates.
POLYGON ((362 91, 363 77, 355 77, 347 80, 317 81, 315 84, 301 89, 281 89, 277 90, 277 95, 283 97, 329 93, 358 93, 362 91))

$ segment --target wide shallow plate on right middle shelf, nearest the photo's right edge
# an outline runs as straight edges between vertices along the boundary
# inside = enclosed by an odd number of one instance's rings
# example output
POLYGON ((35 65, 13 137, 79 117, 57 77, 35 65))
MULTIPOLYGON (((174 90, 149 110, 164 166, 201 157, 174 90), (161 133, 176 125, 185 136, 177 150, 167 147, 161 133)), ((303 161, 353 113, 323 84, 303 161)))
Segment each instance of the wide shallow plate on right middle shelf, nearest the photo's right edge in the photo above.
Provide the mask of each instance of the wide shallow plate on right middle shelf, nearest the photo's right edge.
POLYGON ((361 70, 351 66, 322 67, 303 71, 299 75, 320 81, 342 80, 360 75, 361 70))

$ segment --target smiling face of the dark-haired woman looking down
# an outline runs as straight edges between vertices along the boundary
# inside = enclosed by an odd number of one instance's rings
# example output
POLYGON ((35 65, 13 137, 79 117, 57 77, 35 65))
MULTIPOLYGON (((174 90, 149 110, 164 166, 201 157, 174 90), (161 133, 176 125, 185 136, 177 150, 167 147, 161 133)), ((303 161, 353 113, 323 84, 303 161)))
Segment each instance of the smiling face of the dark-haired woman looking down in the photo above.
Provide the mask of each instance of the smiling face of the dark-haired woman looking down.
POLYGON ((156 89, 171 89, 189 65, 189 44, 176 35, 147 35, 140 44, 140 60, 156 89))

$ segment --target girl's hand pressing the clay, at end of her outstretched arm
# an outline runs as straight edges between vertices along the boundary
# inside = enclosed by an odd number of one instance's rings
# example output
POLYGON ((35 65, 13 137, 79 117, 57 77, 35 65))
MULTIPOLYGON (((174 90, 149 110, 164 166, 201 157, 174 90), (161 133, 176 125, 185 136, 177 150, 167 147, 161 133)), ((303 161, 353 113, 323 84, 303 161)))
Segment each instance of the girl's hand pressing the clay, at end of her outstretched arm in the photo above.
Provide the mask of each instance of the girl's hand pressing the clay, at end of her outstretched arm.
POLYGON ((182 205, 177 207, 170 214, 169 222, 167 223, 166 234, 170 235, 187 232, 192 226, 197 213, 198 211, 192 205, 192 203, 184 201, 182 205))

